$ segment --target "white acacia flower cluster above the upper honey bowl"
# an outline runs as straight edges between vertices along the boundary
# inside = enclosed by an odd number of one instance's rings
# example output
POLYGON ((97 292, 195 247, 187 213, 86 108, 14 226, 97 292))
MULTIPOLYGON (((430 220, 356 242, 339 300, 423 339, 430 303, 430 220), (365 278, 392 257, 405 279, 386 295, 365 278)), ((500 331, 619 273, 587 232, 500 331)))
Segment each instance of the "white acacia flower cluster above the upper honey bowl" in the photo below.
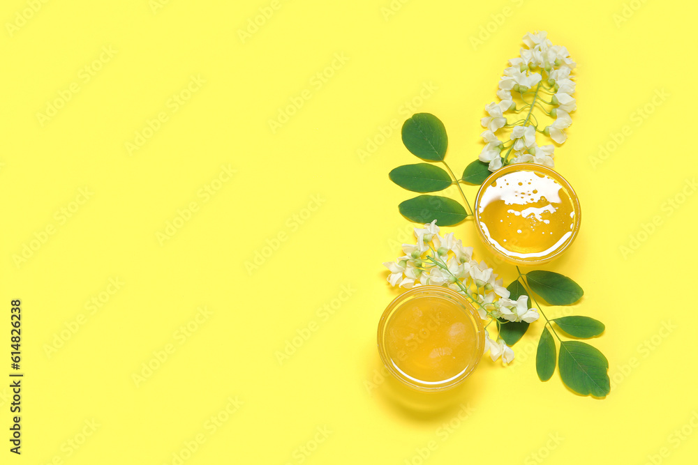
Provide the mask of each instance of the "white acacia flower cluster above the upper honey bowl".
MULTIPOLYGON (((485 107, 489 115, 481 121, 482 126, 487 128, 481 134, 485 146, 478 158, 481 162, 489 163, 490 171, 497 171, 503 165, 521 162, 535 162, 553 167, 555 147, 552 144, 538 146, 535 140, 536 132, 542 132, 558 144, 567 139, 565 129, 572 124, 570 112, 577 109, 577 102, 572 98, 575 84, 571 75, 577 65, 565 47, 553 45, 546 35, 545 31, 541 31, 527 33, 523 37, 526 48, 521 48, 520 56, 509 60, 509 68, 506 68, 504 75, 500 77, 497 91, 500 101, 491 102, 485 107), (517 110, 512 92, 520 94, 526 102, 523 108, 517 110), (542 105, 542 96, 549 98, 551 109, 548 114, 555 118, 555 121, 544 129, 537 128, 537 120, 534 124, 530 119, 534 102, 542 105), (525 98, 531 101, 528 102, 525 98), (496 132, 508 124, 505 113, 521 112, 526 108, 528 114, 522 118, 523 123, 513 126, 508 140, 500 140, 496 132)), ((535 119, 535 115, 533 117, 535 119)))

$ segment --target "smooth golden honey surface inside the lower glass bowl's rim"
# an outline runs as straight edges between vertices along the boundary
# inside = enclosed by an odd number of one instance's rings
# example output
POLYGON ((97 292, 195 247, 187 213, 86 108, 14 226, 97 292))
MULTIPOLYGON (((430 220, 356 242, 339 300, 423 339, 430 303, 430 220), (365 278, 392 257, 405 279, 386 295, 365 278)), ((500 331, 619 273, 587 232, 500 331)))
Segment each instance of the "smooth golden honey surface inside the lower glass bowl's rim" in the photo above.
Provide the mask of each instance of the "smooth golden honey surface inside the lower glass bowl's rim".
POLYGON ((393 366, 422 383, 440 383, 459 376, 476 362, 480 355, 476 348, 473 322, 445 298, 408 300, 385 328, 385 351, 393 366))

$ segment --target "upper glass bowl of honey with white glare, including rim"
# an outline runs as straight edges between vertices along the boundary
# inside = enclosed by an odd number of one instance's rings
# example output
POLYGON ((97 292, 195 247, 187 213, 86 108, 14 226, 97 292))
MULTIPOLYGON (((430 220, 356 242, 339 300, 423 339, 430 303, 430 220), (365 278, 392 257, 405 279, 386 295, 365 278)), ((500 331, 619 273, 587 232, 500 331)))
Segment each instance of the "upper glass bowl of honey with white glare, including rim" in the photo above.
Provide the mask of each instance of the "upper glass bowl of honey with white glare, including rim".
POLYGON ((475 197, 475 225, 484 245, 510 264, 540 265, 570 247, 581 208, 570 183, 535 163, 516 163, 487 178, 475 197))

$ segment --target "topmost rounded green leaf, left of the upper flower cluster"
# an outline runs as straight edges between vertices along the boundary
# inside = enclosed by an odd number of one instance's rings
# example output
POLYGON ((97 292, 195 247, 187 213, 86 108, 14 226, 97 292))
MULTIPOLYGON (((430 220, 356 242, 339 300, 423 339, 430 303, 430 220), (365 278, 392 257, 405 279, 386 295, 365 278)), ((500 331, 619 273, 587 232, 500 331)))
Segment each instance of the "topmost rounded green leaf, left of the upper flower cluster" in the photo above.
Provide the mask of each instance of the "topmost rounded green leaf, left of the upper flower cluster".
POLYGON ((448 146, 446 128, 433 114, 413 114, 402 125, 402 143, 422 160, 441 162, 448 146))

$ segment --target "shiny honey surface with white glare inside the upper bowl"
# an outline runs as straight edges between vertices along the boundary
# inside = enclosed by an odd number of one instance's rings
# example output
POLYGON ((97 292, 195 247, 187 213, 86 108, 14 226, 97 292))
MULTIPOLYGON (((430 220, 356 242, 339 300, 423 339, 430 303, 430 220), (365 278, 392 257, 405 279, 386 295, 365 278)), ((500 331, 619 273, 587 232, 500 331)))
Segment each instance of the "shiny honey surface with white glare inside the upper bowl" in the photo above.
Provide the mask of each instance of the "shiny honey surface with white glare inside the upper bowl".
POLYGON ((517 259, 554 254, 572 238, 577 214, 567 190, 535 171, 503 174, 485 188, 477 208, 487 241, 517 259))

